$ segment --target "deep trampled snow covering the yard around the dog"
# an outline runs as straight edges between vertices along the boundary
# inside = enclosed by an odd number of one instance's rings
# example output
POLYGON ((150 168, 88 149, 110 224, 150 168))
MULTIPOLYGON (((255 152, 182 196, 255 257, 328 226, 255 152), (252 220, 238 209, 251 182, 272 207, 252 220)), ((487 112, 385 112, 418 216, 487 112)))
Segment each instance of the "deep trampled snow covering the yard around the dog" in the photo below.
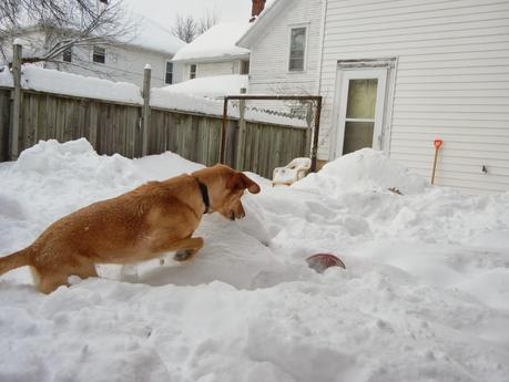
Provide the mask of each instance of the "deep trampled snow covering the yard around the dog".
MULTIPOLYGON (((200 168, 167 153, 99 156, 42 142, 0 164, 0 254, 150 178, 200 168)), ((190 265, 140 266, 41 296, 0 278, 0 381, 509 380, 509 195, 429 187, 360 151, 293 187, 206 216, 190 265), (388 190, 395 187, 400 194, 388 190), (304 259, 338 254, 318 275, 304 259)))

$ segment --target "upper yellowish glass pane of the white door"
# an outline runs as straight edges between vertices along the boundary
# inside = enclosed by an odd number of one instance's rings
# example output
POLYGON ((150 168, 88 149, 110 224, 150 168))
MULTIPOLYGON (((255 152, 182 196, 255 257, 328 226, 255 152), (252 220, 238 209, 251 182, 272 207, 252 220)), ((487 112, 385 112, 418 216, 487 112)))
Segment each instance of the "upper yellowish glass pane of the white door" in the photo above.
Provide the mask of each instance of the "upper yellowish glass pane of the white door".
POLYGON ((350 80, 348 85, 347 118, 375 118, 377 79, 350 80))

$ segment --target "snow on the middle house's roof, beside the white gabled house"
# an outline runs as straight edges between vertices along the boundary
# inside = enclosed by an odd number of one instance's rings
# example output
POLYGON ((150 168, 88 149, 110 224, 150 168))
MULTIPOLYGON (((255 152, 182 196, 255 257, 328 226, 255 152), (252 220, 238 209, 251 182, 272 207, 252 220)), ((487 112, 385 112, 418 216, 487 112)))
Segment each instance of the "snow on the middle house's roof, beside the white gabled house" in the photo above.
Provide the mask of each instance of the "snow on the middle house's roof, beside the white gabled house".
POLYGON ((251 28, 248 22, 222 22, 182 48, 173 61, 223 59, 250 54, 250 50, 236 47, 236 41, 251 28))

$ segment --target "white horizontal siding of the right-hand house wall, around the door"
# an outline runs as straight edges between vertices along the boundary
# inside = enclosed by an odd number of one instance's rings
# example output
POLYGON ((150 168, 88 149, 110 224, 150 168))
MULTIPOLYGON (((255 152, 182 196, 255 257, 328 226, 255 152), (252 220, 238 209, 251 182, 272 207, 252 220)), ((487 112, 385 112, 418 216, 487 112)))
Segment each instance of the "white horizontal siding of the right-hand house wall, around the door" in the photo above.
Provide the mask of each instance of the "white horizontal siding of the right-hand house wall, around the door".
POLYGON ((439 185, 509 190, 509 1, 328 0, 323 54, 320 159, 337 62, 397 58, 390 156, 429 178, 440 137, 439 185))

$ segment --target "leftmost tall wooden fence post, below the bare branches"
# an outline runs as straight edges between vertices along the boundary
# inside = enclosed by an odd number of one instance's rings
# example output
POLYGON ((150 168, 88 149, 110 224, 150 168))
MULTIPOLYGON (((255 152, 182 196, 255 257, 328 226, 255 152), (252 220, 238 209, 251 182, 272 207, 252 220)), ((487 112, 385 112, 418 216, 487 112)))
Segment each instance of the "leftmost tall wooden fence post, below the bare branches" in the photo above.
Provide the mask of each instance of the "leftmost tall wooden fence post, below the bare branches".
POLYGON ((12 45, 12 78, 14 89, 12 90, 12 115, 10 132, 10 159, 16 161, 19 156, 20 141, 20 114, 21 114, 21 56, 23 47, 14 41, 12 45))

